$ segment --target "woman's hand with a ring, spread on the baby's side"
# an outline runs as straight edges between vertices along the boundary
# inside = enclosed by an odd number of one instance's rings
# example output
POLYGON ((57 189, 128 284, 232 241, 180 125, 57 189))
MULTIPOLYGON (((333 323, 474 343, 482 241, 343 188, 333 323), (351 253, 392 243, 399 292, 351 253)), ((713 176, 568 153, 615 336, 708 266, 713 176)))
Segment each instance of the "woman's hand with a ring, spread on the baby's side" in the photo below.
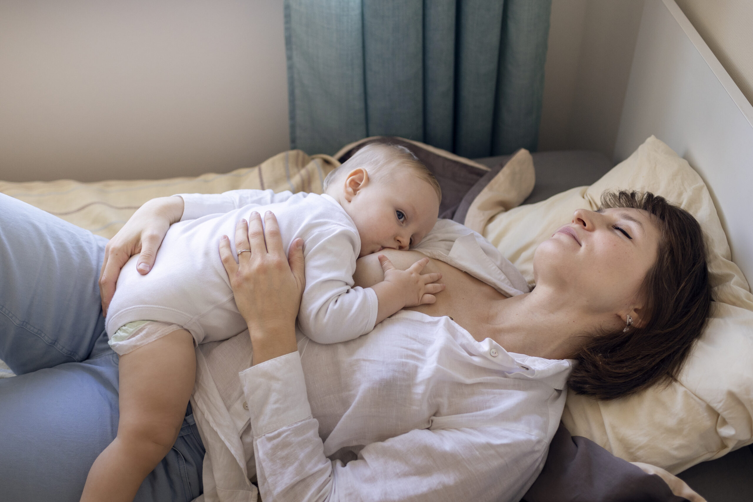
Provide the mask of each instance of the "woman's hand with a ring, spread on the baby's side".
POLYGON ((291 244, 286 259, 277 218, 267 211, 262 226, 254 211, 248 222, 238 222, 235 246, 241 251, 238 263, 227 236, 220 241, 220 257, 236 306, 248 324, 254 364, 296 351, 295 318, 305 285, 303 240, 291 244))

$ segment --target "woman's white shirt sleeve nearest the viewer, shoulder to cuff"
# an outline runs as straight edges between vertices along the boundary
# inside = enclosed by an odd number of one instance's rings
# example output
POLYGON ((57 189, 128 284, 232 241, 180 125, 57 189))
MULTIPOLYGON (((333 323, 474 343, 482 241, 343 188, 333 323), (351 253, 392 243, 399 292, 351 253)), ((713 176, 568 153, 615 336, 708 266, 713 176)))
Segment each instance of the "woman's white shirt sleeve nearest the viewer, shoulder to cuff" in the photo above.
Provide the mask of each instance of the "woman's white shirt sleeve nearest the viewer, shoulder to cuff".
MULTIPOLYGON (((297 352, 240 373, 264 502, 520 500, 547 441, 509 427, 413 430, 343 464, 325 457, 297 352)), ((355 447, 357 449, 357 447, 355 447)))

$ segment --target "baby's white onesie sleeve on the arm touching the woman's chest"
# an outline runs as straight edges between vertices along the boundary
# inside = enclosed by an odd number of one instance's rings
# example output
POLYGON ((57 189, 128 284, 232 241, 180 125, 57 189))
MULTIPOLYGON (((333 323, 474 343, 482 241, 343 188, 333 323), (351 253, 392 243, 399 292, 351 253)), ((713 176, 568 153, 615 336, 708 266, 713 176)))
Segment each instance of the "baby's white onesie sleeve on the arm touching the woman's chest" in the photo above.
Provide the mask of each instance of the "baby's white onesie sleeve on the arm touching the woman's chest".
POLYGON ((377 322, 377 292, 354 287, 358 233, 329 225, 305 238, 306 289, 298 325, 318 343, 344 342, 369 333, 377 322))

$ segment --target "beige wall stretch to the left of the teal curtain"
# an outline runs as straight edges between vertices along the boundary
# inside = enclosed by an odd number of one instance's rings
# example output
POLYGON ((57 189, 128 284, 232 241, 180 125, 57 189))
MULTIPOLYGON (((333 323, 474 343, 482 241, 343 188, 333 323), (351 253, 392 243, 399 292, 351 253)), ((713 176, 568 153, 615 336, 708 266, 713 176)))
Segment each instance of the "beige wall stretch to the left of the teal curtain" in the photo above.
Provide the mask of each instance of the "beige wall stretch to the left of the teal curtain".
POLYGON ((288 148, 282 0, 2 0, 0 179, 164 178, 288 148))

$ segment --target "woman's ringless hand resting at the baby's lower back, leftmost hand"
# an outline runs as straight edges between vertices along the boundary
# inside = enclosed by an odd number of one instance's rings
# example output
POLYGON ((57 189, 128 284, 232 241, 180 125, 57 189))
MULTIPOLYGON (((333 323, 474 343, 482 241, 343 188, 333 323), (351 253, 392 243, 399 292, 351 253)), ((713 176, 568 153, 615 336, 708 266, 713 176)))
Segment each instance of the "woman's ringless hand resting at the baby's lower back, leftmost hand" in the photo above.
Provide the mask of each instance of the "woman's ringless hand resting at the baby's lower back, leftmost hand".
POLYGON ((133 213, 110 242, 105 246, 105 260, 99 273, 99 296, 102 312, 107 315, 120 269, 134 254, 141 253, 136 269, 147 274, 154 265, 157 249, 165 238, 167 229, 183 215, 182 197, 159 197, 145 202, 133 213))

